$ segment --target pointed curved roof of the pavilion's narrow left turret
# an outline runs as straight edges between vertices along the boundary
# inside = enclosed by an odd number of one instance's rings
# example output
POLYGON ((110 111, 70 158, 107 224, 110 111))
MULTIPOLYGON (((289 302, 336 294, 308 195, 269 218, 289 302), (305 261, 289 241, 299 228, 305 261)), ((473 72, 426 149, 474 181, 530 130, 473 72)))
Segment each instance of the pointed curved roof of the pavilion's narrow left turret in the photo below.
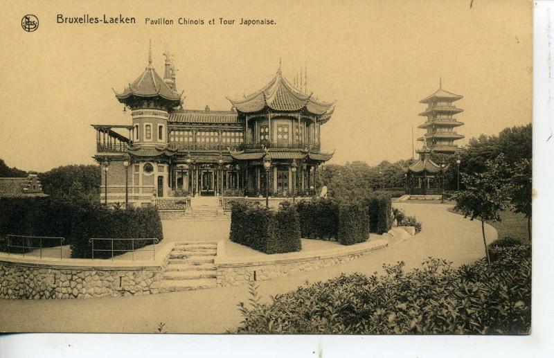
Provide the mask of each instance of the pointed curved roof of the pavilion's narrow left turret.
POLYGON ((120 102, 124 102, 131 96, 144 98, 160 96, 170 101, 181 101, 181 96, 170 89, 168 84, 161 79, 153 66, 146 67, 139 78, 136 78, 134 82, 129 84, 123 93, 116 92, 116 98, 120 102))

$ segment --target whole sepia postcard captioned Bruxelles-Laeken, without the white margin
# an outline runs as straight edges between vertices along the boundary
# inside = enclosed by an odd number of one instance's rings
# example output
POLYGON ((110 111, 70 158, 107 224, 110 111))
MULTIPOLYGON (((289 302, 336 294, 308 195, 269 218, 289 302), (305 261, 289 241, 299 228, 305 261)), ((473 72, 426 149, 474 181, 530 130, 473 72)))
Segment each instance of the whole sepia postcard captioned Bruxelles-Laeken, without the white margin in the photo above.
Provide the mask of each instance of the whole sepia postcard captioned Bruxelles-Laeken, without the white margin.
POLYGON ((531 333, 533 2, 0 9, 0 332, 531 333))

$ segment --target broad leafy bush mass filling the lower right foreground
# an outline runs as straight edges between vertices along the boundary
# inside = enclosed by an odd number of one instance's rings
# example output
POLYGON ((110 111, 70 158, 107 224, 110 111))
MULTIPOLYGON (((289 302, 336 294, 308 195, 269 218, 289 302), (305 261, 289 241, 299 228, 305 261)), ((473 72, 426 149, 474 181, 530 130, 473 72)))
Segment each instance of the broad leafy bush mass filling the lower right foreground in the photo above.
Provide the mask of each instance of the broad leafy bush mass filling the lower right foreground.
MULTIPOLYGON (((530 247, 492 247, 497 260, 454 269, 429 258, 404 271, 341 275, 260 303, 240 303, 239 333, 527 334, 531 319, 530 247)), ((255 283, 251 283, 252 286, 255 283)))

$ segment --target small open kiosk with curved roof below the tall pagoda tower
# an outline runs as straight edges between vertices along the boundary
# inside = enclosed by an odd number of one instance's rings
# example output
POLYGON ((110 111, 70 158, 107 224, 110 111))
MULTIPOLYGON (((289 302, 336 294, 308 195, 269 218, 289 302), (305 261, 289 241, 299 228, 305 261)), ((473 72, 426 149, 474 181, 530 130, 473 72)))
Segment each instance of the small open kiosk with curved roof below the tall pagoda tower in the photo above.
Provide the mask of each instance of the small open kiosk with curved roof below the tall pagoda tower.
POLYGON ((420 159, 402 168, 406 177, 406 194, 413 195, 438 195, 444 188, 444 164, 438 165, 429 156, 431 150, 427 147, 427 141, 423 138, 423 147, 418 150, 420 159))

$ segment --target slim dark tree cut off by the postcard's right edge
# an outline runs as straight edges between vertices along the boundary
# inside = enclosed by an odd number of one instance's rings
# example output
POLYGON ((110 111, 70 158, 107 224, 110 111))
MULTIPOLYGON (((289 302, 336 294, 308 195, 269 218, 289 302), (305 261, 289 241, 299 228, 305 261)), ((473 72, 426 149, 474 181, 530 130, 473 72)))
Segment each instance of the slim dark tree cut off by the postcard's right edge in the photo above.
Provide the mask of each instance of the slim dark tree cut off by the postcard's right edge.
POLYGON ((533 172, 529 159, 520 159, 515 163, 513 185, 515 187, 512 197, 516 213, 522 213, 527 218, 527 231, 531 242, 531 214, 533 211, 533 172))

